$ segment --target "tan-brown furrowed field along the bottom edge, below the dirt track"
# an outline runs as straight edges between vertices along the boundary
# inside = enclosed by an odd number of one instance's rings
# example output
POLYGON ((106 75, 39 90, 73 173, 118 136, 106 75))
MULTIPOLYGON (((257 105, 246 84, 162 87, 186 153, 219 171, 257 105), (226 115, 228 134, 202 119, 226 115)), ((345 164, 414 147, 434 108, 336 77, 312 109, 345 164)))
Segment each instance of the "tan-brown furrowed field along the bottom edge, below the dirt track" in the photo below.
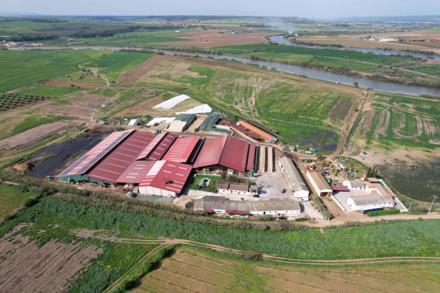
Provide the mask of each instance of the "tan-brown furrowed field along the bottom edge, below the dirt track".
POLYGON ((438 264, 293 266, 184 246, 165 258, 132 292, 344 293, 387 288, 395 293, 428 293, 436 291, 439 277, 438 264))

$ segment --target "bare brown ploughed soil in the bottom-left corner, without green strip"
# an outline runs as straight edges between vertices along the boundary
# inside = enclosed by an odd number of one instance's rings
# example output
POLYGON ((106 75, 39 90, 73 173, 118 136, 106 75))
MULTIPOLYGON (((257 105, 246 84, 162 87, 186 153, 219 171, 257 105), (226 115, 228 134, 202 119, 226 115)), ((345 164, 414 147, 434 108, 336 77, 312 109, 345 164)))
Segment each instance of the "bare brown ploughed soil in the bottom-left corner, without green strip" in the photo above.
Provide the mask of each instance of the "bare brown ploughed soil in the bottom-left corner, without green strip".
POLYGON ((27 236, 0 238, 0 292, 65 292, 101 249, 48 241, 38 247, 27 236))

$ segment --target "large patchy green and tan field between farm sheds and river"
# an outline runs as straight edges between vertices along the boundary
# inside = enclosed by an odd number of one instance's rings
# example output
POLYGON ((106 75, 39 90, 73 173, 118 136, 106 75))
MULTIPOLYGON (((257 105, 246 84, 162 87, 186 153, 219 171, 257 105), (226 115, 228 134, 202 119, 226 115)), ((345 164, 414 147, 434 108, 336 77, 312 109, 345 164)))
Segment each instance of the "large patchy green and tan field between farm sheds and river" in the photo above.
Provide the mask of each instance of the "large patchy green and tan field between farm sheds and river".
POLYGON ((326 87, 173 59, 160 62, 138 83, 187 92, 231 115, 254 118, 290 143, 312 135, 317 144, 337 142, 358 104, 354 95, 326 87))

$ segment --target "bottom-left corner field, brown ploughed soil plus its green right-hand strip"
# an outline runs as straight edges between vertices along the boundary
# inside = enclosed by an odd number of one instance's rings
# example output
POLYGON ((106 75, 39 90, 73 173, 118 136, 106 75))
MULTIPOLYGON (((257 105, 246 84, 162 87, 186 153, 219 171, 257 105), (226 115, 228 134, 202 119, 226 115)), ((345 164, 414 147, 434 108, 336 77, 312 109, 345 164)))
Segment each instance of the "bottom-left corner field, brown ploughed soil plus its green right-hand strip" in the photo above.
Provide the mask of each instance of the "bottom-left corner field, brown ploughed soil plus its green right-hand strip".
POLYGON ((0 226, 0 291, 101 292, 155 247, 79 238, 52 220, 0 226))

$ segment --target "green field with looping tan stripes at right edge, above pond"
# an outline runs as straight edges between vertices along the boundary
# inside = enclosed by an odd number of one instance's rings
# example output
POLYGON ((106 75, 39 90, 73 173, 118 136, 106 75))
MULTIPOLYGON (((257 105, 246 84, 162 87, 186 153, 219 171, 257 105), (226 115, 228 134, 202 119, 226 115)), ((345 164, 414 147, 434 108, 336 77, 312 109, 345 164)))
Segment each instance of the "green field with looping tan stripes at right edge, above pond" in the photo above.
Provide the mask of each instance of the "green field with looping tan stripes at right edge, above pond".
POLYGON ((368 143, 440 145, 439 101, 377 93, 366 106, 355 134, 366 137, 368 143))

